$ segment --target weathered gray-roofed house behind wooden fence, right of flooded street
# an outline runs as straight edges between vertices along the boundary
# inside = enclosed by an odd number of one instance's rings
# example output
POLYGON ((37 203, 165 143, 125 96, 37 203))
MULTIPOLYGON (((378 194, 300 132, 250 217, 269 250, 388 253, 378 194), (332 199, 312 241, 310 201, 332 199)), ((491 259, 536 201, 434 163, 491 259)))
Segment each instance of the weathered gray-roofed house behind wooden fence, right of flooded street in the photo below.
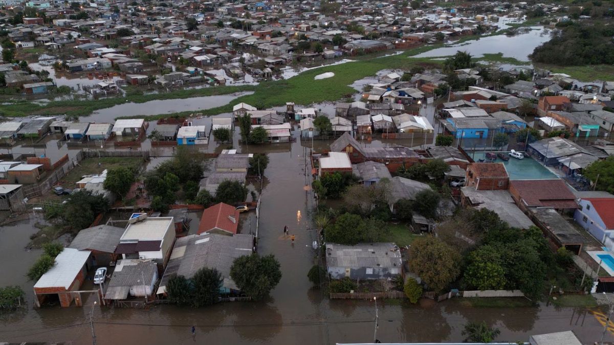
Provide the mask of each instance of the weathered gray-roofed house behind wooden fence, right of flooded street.
POLYGON ((326 244, 326 269, 333 279, 386 279, 401 274, 401 252, 394 243, 326 244))

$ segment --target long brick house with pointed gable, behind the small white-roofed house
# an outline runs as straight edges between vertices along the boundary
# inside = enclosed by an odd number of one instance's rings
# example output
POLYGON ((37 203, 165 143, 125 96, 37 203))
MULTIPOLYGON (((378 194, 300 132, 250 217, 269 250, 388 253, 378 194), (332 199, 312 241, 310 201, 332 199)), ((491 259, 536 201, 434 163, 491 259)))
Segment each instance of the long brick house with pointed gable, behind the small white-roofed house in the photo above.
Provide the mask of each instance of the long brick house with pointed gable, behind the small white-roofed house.
POLYGON ((346 152, 352 164, 365 161, 384 163, 389 171, 395 172, 405 165, 412 166, 421 161, 421 155, 408 147, 362 147, 349 133, 343 133, 330 144, 332 152, 346 152))

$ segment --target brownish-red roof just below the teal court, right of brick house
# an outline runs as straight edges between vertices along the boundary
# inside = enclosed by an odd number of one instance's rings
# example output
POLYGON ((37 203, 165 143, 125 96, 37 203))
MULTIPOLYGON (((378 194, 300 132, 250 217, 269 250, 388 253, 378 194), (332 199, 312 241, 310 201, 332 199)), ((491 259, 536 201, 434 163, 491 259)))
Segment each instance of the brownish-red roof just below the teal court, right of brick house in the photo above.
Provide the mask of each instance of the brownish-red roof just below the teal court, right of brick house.
POLYGON ((578 208, 575 196, 563 180, 511 180, 510 185, 529 207, 578 208))

